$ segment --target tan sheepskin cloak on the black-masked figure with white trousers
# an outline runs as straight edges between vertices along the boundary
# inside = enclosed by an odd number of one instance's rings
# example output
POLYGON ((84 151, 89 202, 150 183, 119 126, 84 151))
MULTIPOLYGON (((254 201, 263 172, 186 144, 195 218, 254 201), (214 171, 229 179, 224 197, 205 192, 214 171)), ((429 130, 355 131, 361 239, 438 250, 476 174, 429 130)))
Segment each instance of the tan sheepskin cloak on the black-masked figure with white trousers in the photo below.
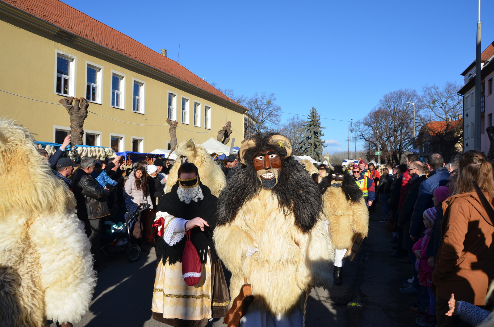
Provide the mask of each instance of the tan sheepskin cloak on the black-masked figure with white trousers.
MULTIPOLYGON (((328 177, 325 177, 321 184, 324 185, 329 180, 328 177)), ((346 179, 347 176, 343 183, 346 179)), ((353 179, 353 177, 348 175, 348 179, 353 179)), ((357 186, 355 181, 350 181, 357 186)), ((360 193, 359 198, 353 197, 353 199, 358 199, 356 201, 345 194, 345 187, 329 186, 323 194, 323 213, 329 222, 328 230, 334 249, 350 247, 356 233, 365 237, 369 234, 369 210, 362 197, 362 191, 358 187, 356 189, 360 193)))

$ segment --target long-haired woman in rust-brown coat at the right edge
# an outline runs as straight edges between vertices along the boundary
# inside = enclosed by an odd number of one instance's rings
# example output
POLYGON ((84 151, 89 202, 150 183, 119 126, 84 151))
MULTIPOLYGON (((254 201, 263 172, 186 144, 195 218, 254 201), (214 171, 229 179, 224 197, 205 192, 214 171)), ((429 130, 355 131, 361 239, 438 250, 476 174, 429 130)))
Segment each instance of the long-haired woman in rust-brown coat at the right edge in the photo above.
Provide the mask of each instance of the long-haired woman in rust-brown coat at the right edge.
POLYGON ((493 222, 482 204, 494 199, 493 167, 474 150, 457 157, 458 177, 452 197, 443 202, 442 244, 432 282, 436 286, 437 326, 457 326, 448 316, 448 299, 486 305, 489 280, 494 278, 493 222), (477 183, 482 195, 475 191, 477 183))

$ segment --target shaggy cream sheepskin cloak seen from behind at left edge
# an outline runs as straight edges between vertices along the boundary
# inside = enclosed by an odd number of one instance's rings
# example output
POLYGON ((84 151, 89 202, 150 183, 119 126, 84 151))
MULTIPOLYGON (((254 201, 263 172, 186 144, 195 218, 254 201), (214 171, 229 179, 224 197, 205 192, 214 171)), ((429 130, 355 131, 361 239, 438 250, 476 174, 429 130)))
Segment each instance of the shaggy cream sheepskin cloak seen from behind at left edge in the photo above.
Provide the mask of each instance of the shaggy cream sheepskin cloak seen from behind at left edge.
POLYGON ((31 135, 0 120, 0 325, 77 323, 94 286, 90 244, 75 200, 31 135))

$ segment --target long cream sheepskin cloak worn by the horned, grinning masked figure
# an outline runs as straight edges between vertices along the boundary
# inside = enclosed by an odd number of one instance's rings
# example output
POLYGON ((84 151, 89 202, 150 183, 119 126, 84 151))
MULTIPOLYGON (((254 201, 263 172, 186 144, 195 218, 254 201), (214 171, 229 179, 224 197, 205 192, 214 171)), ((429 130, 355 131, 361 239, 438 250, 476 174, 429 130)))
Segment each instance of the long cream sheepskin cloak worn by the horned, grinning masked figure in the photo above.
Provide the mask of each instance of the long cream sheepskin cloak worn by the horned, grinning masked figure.
POLYGON ((287 315, 296 307, 302 309, 300 299, 311 287, 332 286, 334 252, 324 221, 302 232, 294 214, 283 212, 271 190, 261 188, 230 223, 216 226, 213 239, 218 256, 232 273, 230 298, 238 295, 244 276, 251 284, 255 299, 249 312, 287 315), (259 251, 246 257, 254 242, 259 251))

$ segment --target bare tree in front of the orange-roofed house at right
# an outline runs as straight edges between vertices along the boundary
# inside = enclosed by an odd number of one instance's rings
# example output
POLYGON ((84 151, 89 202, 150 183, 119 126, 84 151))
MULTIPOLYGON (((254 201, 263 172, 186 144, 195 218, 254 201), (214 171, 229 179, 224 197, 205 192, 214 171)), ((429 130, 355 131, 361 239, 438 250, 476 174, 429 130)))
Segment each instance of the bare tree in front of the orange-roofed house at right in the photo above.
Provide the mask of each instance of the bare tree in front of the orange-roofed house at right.
POLYGON ((460 88, 461 85, 452 82, 446 82, 443 87, 426 84, 422 87, 423 94, 419 99, 422 111, 418 118, 423 129, 426 128, 428 132, 423 133, 421 130, 420 135, 426 136, 431 143, 430 150, 440 152, 447 162, 452 161, 458 151, 455 145, 463 141, 463 123, 460 118, 463 101, 456 93, 460 88))

